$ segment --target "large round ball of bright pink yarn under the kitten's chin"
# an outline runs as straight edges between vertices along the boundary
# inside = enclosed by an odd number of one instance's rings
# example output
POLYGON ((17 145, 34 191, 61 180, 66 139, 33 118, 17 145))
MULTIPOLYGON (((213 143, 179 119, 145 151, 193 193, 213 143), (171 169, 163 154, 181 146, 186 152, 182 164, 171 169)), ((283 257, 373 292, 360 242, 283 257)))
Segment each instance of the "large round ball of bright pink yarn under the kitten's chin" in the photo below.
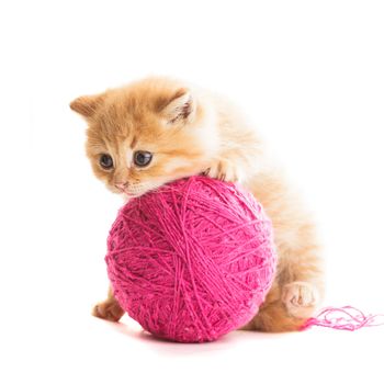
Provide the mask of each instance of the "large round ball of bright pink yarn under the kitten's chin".
POLYGON ((108 240, 114 295, 144 329, 212 341, 258 312, 275 271, 271 222, 233 183, 192 177, 129 201, 108 240))

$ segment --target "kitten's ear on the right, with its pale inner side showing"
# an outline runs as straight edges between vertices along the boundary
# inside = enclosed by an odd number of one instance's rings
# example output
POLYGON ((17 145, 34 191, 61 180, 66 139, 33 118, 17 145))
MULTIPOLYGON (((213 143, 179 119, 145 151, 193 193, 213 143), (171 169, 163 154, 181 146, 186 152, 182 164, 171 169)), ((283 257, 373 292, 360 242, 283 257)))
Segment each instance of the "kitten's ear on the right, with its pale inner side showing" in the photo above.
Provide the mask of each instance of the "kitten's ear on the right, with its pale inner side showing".
POLYGON ((195 102, 191 91, 179 89, 168 104, 162 109, 161 114, 167 118, 168 123, 191 121, 195 112, 195 102))

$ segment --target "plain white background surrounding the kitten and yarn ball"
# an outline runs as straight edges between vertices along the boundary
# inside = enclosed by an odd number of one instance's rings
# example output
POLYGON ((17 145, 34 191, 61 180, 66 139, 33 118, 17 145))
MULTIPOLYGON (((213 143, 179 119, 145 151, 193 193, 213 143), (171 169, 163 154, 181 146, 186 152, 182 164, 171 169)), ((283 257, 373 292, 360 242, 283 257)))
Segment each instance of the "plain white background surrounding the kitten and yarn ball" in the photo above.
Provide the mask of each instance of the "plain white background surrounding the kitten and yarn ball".
POLYGON ((384 312, 382 1, 0 5, 2 383, 383 381, 384 327, 183 346, 90 316, 120 206, 68 103, 150 74, 229 95, 315 213, 325 304, 384 312))

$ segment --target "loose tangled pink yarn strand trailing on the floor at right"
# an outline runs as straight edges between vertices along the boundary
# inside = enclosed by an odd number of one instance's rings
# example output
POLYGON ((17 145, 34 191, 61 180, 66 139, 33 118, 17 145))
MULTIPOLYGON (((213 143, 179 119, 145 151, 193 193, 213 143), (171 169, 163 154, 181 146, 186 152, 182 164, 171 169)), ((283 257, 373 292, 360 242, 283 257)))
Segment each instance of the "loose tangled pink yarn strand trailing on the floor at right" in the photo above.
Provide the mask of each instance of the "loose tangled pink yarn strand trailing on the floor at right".
POLYGON ((365 315, 360 309, 350 305, 337 308, 326 307, 316 317, 308 318, 301 330, 313 326, 326 327, 340 330, 358 330, 365 327, 377 327, 384 325, 384 314, 365 315), (380 320, 382 318, 382 320, 380 320))

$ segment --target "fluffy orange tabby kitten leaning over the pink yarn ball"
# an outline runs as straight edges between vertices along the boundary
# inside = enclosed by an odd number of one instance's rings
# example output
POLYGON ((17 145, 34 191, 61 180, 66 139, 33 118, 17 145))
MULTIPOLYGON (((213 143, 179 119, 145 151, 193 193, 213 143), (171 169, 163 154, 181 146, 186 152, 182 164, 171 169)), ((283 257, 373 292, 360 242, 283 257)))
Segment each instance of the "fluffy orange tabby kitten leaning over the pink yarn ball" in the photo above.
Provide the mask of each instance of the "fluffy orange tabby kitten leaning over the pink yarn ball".
MULTIPOLYGON (((88 122, 87 155, 112 192, 135 199, 205 172, 242 183, 263 204, 273 222, 278 273, 244 329, 296 330, 313 315, 324 291, 315 227, 230 103, 176 80, 148 78, 78 98, 70 108, 88 122)), ((111 290, 93 309, 113 321, 123 314, 111 290)))

